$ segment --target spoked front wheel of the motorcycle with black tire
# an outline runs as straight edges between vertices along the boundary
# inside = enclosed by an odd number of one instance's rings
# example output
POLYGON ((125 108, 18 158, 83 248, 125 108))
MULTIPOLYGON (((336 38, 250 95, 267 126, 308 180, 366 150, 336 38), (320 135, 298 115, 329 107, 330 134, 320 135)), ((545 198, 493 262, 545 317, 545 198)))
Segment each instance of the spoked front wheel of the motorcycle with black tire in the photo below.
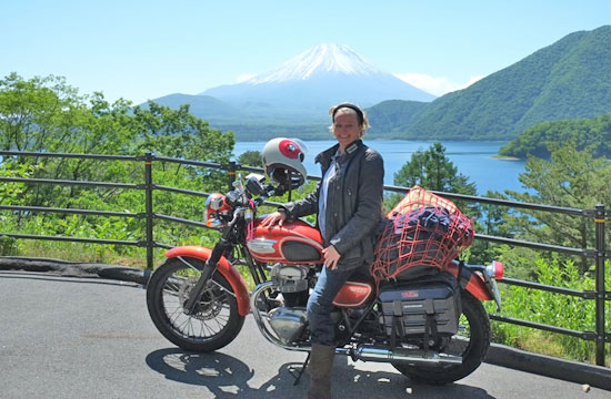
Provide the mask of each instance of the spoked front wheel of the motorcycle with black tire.
MULTIPOLYGON (((189 258, 201 270, 203 263, 189 258)), ((231 285, 216 272, 192 314, 184 313, 201 272, 177 258, 168 259, 153 273, 147 288, 147 307, 159 331, 182 349, 213 351, 231 342, 242 329, 244 317, 231 285)))

